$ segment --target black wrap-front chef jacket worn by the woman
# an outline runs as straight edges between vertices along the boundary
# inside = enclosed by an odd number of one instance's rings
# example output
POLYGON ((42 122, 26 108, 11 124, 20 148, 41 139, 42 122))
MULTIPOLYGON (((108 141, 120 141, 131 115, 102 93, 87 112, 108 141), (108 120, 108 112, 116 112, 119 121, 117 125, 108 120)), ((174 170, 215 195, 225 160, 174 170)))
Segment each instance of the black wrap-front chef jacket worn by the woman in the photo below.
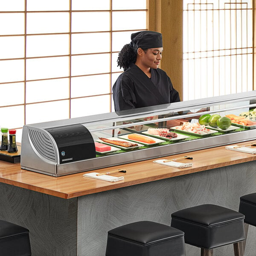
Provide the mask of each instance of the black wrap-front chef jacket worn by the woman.
POLYGON ((179 102, 180 96, 172 87, 166 72, 152 69, 151 79, 135 64, 123 72, 113 85, 115 111, 143 108, 179 102))

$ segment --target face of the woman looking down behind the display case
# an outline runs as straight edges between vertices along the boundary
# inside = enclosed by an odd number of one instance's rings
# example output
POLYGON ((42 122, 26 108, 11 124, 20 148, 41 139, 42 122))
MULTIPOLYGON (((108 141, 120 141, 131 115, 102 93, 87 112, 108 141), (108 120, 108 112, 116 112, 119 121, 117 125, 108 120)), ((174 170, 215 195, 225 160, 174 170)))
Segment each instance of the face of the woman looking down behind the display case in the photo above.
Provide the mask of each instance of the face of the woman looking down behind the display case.
POLYGON ((149 48, 141 55, 141 62, 145 67, 158 68, 162 58, 163 47, 149 48))

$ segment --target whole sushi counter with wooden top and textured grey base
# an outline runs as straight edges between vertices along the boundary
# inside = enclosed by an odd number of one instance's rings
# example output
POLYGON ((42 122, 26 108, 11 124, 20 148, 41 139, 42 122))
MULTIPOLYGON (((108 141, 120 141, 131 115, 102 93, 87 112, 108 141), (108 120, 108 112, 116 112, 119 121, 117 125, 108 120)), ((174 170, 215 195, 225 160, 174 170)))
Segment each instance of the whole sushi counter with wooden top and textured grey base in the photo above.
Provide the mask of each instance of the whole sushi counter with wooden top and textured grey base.
MULTIPOLYGON (((172 212, 199 204, 238 210, 240 196, 256 191, 256 155, 221 146, 164 158, 185 155, 193 160, 180 162, 192 161, 191 168, 151 159, 96 171, 125 169, 115 175, 125 180, 116 183, 83 177, 85 172, 52 177, 0 161, 0 219, 29 229, 33 256, 104 256, 108 230, 115 227, 142 220, 169 225, 172 212)), ((255 237, 249 229, 247 255, 256 251, 255 237)), ((186 247, 187 255, 196 250, 186 247)), ((232 256, 233 247, 215 253, 232 256)))

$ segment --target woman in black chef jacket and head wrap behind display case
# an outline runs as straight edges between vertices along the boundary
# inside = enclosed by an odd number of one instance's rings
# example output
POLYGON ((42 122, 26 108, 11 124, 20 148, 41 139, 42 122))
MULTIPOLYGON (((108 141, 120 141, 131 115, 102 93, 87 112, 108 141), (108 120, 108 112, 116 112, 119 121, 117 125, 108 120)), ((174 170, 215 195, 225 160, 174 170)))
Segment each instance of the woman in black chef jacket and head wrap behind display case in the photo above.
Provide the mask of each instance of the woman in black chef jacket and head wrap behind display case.
POLYGON ((124 72, 113 85, 115 111, 179 102, 177 90, 158 68, 163 52, 162 34, 141 31, 119 52, 117 64, 124 72))

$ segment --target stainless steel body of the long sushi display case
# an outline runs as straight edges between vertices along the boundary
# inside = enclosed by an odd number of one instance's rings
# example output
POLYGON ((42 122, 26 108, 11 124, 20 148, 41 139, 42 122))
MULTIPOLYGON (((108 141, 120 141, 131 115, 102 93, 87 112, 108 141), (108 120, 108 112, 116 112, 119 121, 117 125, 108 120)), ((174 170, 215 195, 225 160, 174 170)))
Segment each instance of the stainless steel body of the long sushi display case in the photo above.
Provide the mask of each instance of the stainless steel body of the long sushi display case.
POLYGON ((174 119, 192 118, 204 113, 239 113, 249 108, 256 108, 256 91, 187 102, 176 102, 130 111, 24 125, 21 147, 21 168, 58 177, 108 166, 254 140, 256 139, 256 129, 247 129, 234 133, 219 134, 218 136, 202 137, 167 145, 157 145, 134 151, 122 151, 118 154, 97 155, 89 159, 61 163, 58 145, 48 132, 52 128, 62 128, 65 130, 65 127, 69 127, 70 125, 83 125, 89 130, 93 140, 96 140, 99 134, 102 133, 108 134, 109 137, 117 136, 117 132, 119 131, 131 133, 133 131, 130 129, 131 125, 135 127, 146 127, 146 125, 154 122, 154 124, 159 125, 161 123, 164 126, 166 122, 174 119), (196 110, 202 110, 204 108, 206 108, 205 111, 195 113, 196 110), (149 116, 154 116, 155 119, 147 120, 149 116), (33 134, 37 134, 37 136, 33 134), (46 148, 44 147, 45 140, 48 143, 46 148), (48 152, 48 147, 50 147, 50 152, 48 152))

